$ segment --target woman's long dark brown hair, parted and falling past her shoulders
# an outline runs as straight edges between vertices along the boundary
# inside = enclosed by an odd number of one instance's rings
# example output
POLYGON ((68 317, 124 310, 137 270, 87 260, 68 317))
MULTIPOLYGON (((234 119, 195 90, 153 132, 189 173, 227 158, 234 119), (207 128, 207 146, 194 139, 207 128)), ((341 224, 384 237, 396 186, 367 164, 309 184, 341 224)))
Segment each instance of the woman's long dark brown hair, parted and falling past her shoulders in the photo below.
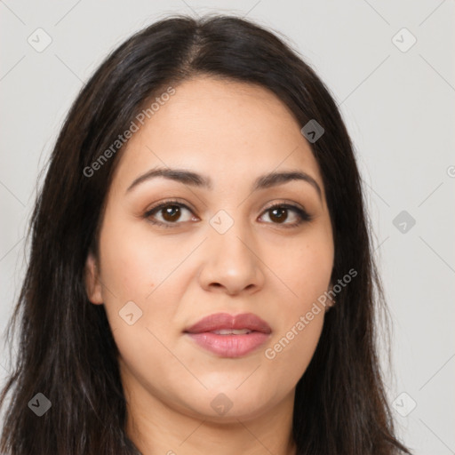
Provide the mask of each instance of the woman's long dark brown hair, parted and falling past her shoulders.
POLYGON ((247 20, 174 16, 141 30, 108 56, 70 109, 30 223, 27 274, 7 330, 19 352, 0 395, 8 403, 2 453, 138 454, 125 435, 118 350, 103 306, 84 288, 100 214, 120 153, 87 168, 169 85, 198 75, 259 84, 299 124, 316 120, 311 143, 323 175, 335 242, 333 282, 358 275, 327 313, 315 355, 297 385, 293 436, 301 455, 410 453, 394 435, 377 354, 377 315, 387 316, 371 249, 353 146, 329 90, 275 34, 247 20), (28 403, 52 403, 42 417, 28 403))

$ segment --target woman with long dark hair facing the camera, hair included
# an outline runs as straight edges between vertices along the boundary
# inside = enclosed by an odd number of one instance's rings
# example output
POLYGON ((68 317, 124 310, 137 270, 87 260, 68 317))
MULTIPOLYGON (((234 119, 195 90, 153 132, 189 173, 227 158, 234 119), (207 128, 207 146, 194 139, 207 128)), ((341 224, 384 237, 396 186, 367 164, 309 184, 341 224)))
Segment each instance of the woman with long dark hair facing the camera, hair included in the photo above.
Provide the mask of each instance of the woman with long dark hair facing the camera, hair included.
POLYGON ((30 254, 2 452, 410 453, 352 144, 265 29, 176 17, 113 52, 60 132, 30 254))

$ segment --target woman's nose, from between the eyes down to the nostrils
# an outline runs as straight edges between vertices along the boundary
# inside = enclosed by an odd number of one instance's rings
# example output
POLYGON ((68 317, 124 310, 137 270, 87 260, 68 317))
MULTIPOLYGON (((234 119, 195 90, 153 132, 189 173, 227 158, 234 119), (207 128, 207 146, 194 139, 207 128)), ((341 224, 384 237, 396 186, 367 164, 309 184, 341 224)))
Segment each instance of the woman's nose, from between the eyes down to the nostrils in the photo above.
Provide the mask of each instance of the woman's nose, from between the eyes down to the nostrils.
POLYGON ((203 289, 228 295, 259 291, 265 281, 264 265, 247 227, 235 222, 224 234, 210 228, 208 236, 199 273, 203 289))

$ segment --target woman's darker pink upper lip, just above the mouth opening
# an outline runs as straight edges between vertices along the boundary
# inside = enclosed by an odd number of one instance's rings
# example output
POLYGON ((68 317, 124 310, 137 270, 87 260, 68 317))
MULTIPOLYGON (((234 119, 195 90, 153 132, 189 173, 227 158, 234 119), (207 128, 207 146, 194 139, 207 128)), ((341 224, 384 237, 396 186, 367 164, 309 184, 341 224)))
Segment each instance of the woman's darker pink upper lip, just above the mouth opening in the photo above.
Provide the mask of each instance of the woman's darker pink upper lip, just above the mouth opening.
POLYGON ((248 329, 250 331, 262 331, 263 333, 272 331, 263 319, 252 313, 243 313, 242 315, 217 313, 208 315, 185 331, 188 333, 202 333, 204 331, 219 331, 223 329, 248 329))

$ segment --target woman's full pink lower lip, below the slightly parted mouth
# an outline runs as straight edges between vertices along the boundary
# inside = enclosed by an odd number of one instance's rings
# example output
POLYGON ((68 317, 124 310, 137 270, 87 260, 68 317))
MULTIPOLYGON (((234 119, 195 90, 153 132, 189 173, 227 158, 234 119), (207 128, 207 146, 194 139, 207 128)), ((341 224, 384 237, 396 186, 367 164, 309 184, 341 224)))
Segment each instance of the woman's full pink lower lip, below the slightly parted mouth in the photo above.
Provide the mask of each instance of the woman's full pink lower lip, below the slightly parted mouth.
POLYGON ((269 334, 261 331, 251 331, 245 335, 217 335, 211 331, 187 333, 187 335, 199 346, 222 357, 241 357, 250 354, 269 337, 269 334))

